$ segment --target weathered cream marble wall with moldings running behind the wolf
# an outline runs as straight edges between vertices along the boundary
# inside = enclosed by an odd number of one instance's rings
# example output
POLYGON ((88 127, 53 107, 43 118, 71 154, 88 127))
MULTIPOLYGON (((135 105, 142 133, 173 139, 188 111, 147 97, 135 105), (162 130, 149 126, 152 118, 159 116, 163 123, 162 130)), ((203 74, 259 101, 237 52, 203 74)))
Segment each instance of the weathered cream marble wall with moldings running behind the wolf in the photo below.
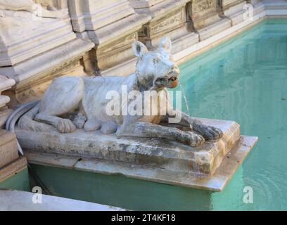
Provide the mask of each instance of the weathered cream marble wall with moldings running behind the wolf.
POLYGON ((5 91, 11 105, 40 98, 54 77, 134 72, 136 39, 153 49, 168 34, 172 53, 180 55, 241 23, 246 2, 255 15, 264 11, 260 0, 34 1, 66 8, 70 16, 32 20, 21 11, 0 17, 0 74, 16 82, 5 91))

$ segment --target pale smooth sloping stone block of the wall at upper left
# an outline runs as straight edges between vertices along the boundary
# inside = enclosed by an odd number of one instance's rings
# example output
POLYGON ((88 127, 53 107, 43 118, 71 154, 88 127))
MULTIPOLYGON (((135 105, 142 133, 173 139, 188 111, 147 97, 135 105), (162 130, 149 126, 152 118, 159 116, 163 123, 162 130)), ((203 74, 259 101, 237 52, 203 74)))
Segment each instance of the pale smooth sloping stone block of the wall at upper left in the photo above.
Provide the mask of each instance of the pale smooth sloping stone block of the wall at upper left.
POLYGON ((13 12, 13 17, 4 18, 4 26, 10 27, 7 34, 0 32, 0 66, 16 65, 76 39, 70 18, 32 20, 31 16, 31 13, 18 11, 13 12))

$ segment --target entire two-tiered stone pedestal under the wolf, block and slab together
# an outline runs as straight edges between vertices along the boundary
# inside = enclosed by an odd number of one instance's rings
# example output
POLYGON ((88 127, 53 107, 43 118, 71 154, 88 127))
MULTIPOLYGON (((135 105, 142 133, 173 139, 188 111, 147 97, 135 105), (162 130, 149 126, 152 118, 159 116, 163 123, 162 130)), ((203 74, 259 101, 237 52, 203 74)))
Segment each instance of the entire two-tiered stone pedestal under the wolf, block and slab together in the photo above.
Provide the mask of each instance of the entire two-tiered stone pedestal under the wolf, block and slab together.
POLYGON ((200 120, 221 129, 222 139, 191 148, 167 139, 117 137, 82 129, 72 134, 16 129, 16 134, 32 164, 222 191, 257 138, 241 136, 236 122, 200 120))

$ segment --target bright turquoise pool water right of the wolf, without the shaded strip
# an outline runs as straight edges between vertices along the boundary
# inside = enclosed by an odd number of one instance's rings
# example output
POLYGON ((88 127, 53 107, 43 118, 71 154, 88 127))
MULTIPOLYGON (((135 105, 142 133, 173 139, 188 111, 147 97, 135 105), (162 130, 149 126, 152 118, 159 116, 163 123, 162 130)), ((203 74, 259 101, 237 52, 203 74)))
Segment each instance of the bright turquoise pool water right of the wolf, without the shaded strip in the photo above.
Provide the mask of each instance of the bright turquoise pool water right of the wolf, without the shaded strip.
POLYGON ((212 194, 213 210, 287 210, 287 20, 264 20, 189 60, 180 82, 192 116, 234 120, 241 134, 259 137, 224 191, 212 194), (253 203, 243 203, 245 186, 253 203))

